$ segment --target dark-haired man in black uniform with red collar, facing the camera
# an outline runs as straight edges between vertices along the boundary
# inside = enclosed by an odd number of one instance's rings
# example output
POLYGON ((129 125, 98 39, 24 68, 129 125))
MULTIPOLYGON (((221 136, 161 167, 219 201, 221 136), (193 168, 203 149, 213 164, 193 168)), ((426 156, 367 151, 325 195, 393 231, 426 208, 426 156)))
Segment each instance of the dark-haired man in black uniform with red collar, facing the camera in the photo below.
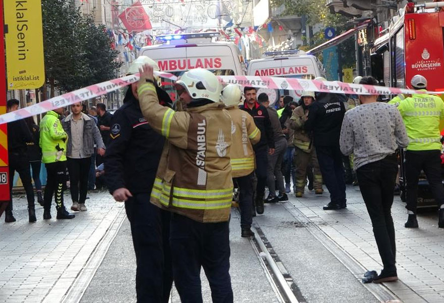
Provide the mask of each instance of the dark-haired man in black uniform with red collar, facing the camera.
POLYGON ((267 182, 267 154, 274 154, 274 137, 271 128, 270 117, 267 109, 259 105, 256 99, 256 88, 244 87, 245 102, 241 106, 241 110, 249 113, 254 120, 257 128, 259 128, 261 136, 260 141, 254 145, 254 155, 256 157, 256 212, 263 214, 263 199, 265 193, 265 184, 267 182))

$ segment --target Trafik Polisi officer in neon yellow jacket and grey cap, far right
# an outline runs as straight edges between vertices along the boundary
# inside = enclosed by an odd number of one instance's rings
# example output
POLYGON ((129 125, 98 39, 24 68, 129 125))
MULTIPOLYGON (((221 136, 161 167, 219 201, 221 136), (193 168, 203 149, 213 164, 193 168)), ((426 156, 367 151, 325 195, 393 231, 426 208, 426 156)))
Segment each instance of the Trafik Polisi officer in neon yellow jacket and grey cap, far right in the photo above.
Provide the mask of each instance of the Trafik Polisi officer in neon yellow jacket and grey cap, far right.
POLYGON ((436 95, 425 93, 427 80, 421 75, 412 77, 413 89, 424 90, 401 100, 398 110, 406 125, 409 145, 405 154, 407 228, 417 228, 416 220, 418 180, 424 171, 430 190, 439 206, 438 226, 444 227, 444 187, 441 179, 441 147, 439 120, 444 119, 444 103, 436 95))

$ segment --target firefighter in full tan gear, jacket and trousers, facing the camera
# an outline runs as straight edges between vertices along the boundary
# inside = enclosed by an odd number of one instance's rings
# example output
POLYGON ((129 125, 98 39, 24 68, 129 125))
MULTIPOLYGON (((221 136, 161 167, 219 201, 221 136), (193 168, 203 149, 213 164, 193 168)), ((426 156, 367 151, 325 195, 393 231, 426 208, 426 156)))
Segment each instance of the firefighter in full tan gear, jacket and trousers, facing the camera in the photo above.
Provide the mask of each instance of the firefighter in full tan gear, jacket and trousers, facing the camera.
POLYGON ((322 174, 316 158, 310 134, 304 129, 308 117, 309 106, 315 102, 313 91, 304 91, 298 106, 290 118, 290 127, 295 130, 293 142, 295 144, 295 167, 296 167, 296 197, 302 197, 306 183, 307 167, 313 168, 313 187, 316 194, 322 194, 322 174))

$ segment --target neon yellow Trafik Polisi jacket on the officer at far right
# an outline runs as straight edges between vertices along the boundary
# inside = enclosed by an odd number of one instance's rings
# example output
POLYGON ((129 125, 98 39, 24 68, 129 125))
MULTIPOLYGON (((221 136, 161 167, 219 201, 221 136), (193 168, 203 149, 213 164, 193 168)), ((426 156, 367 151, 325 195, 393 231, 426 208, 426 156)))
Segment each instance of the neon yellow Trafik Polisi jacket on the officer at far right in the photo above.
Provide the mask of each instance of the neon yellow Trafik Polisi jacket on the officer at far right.
POLYGON ((413 94, 398 105, 406 125, 407 150, 441 149, 439 120, 444 119, 441 98, 427 93, 413 94))

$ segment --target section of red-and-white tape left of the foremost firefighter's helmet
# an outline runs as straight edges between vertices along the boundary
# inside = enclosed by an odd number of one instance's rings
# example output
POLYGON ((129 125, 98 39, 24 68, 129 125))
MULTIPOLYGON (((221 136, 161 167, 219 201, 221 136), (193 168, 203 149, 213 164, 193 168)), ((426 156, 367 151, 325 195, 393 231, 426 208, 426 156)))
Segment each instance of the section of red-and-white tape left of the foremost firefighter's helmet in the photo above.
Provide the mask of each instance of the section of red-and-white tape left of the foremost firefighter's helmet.
MULTIPOLYGON (((177 80, 177 77, 170 73, 155 71, 154 74, 156 76, 167 78, 173 81, 177 80)), ((61 107, 66 107, 78 102, 82 102, 87 99, 95 98, 105 93, 112 92, 119 88, 130 85, 131 83, 137 81, 139 81, 138 73, 109 81, 104 81, 98 84, 93 84, 84 88, 67 92, 60 96, 47 99, 43 102, 25 107, 23 109, 19 109, 11 113, 0 115, 0 124, 13 122, 27 117, 43 114, 48 111, 52 111, 61 107)))

